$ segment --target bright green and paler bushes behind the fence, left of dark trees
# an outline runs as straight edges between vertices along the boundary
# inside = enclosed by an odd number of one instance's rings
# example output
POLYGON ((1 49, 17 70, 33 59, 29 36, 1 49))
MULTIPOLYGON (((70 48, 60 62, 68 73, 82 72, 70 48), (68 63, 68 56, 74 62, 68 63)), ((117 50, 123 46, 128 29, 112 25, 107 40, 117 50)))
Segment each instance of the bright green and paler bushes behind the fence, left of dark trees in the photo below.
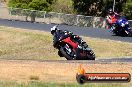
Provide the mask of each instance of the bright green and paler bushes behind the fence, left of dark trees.
POLYGON ((9 0, 8 6, 61 13, 74 12, 72 0, 9 0))

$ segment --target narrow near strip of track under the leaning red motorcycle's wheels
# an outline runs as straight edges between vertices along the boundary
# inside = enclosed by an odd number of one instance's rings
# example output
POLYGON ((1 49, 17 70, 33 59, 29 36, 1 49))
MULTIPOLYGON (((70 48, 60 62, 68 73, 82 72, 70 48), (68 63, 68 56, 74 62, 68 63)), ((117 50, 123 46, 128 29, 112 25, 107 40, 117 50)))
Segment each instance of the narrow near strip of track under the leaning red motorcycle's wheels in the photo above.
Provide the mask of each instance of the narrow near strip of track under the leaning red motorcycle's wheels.
POLYGON ((111 64, 111 63, 132 63, 132 58, 131 57, 122 57, 122 58, 107 58, 107 59, 96 59, 96 60, 70 60, 70 61, 66 61, 66 60, 38 60, 38 59, 14 59, 14 58, 10 58, 10 59, 0 59, 0 61, 2 60, 20 60, 20 61, 38 61, 38 62, 58 62, 58 63, 84 63, 84 64, 99 64, 99 63, 107 63, 107 64, 111 64))

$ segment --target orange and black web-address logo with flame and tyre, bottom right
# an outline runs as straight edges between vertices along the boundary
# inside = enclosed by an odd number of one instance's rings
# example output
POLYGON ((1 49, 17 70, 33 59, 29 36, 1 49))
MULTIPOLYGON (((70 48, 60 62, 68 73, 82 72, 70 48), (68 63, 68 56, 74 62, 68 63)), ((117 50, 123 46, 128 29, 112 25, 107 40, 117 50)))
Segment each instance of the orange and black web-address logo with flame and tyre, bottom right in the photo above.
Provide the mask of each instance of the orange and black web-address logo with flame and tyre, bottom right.
POLYGON ((131 75, 129 73, 86 73, 82 65, 79 65, 76 80, 80 84, 86 82, 130 82, 131 75))

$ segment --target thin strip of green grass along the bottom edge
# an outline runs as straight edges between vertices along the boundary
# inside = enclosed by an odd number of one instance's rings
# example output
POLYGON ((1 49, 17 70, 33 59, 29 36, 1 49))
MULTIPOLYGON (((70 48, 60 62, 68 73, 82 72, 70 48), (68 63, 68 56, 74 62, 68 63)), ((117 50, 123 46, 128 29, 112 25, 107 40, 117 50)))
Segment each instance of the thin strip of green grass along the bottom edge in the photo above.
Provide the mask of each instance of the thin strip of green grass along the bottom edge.
POLYGON ((0 81, 0 87, 131 87, 130 83, 43 83, 37 81, 17 82, 17 81, 0 81))

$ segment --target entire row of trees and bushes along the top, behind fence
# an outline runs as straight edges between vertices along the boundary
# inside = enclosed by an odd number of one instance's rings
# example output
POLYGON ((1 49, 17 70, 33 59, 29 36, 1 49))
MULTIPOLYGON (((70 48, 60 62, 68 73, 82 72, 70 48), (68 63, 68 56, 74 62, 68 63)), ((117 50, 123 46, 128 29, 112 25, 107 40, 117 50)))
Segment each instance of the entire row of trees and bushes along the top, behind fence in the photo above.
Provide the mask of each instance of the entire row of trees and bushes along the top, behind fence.
MULTIPOLYGON (((8 6, 88 16, 106 16, 114 0, 9 0, 8 6)), ((115 0, 115 10, 132 19, 132 0, 115 0)))

